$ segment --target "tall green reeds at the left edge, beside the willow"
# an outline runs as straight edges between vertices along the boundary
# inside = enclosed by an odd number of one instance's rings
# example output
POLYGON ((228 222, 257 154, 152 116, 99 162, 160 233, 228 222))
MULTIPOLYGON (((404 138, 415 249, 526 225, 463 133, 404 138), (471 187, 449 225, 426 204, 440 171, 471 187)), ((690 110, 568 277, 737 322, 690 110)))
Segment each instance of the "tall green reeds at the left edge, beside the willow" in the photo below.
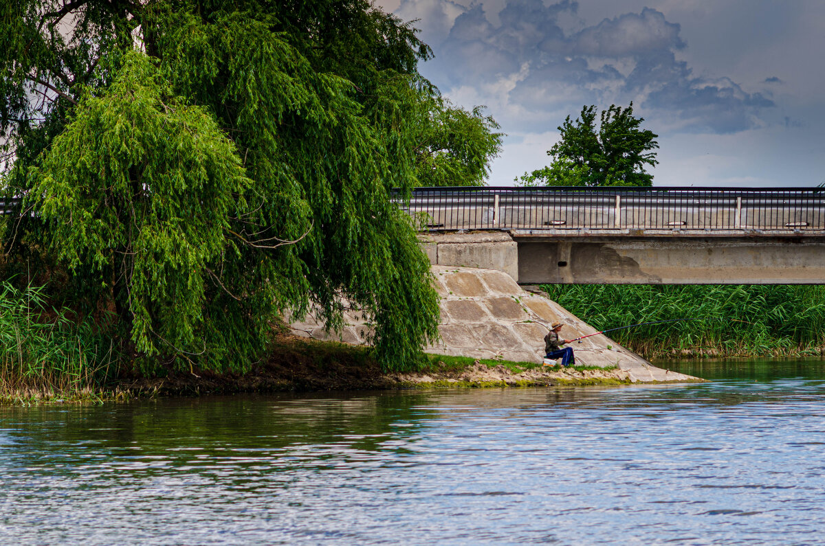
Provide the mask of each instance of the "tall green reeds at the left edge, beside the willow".
POLYGON ((115 370, 111 341, 47 302, 42 286, 0 282, 0 402, 94 399, 115 370))

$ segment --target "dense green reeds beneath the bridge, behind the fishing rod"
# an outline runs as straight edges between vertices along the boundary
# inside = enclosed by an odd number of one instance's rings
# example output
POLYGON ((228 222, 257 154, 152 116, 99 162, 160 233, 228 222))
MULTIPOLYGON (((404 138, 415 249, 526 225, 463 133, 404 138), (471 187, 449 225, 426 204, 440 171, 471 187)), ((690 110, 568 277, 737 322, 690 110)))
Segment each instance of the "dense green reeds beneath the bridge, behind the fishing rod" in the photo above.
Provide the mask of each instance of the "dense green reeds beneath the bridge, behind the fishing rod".
POLYGON ((598 330, 647 358, 818 355, 825 347, 823 285, 543 285, 598 330))

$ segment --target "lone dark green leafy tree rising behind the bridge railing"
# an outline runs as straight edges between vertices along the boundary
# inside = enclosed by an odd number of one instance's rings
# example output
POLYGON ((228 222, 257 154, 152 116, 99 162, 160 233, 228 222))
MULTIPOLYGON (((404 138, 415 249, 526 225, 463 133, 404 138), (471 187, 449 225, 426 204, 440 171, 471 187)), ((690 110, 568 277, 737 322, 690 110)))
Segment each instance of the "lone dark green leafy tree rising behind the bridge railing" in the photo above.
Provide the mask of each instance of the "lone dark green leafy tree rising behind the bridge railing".
POLYGON ((653 175, 645 166, 658 164, 658 134, 640 129, 644 118, 627 108, 611 105, 601 111, 596 130, 596 106, 582 107, 575 121, 570 116, 558 129, 561 139, 547 155, 549 167, 526 172, 516 179, 524 186, 651 186, 653 175))

